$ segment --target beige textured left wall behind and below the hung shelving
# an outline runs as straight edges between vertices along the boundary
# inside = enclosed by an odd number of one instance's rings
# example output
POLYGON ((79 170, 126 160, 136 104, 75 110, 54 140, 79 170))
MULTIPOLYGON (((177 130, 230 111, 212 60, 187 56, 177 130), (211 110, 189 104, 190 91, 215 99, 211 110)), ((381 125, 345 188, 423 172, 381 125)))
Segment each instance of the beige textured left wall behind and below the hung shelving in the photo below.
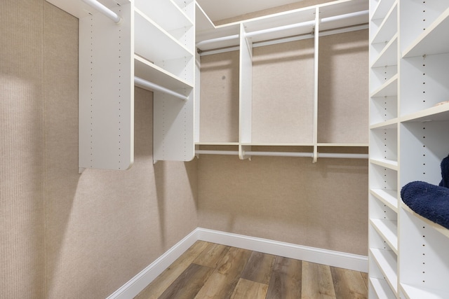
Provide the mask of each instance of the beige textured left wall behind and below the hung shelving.
POLYGON ((0 4, 0 298, 105 298, 194 230, 196 161, 152 161, 135 90, 135 164, 78 174, 78 21, 0 4))

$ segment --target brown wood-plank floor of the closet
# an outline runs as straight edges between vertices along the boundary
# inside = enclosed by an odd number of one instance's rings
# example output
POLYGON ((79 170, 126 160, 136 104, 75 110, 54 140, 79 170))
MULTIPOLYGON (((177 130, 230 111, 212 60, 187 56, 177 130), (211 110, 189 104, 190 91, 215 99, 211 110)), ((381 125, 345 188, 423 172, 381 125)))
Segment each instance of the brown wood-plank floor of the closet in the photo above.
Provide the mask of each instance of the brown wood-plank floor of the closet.
POLYGON ((203 241, 135 298, 368 298, 366 273, 203 241))

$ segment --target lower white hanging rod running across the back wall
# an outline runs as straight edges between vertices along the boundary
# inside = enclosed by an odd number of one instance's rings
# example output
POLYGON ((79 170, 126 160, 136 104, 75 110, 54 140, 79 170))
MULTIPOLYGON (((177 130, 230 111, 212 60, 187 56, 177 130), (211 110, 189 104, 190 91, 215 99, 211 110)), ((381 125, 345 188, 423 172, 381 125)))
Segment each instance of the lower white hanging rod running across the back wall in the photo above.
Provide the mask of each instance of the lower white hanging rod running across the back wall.
MULTIPOLYGON (((196 150, 196 155, 239 155, 239 151, 196 150)), ((267 157, 300 157, 314 158, 314 153, 296 153, 281 151, 243 151, 243 155, 260 155, 267 157)), ((365 153, 317 153, 318 158, 368 159, 365 153)))

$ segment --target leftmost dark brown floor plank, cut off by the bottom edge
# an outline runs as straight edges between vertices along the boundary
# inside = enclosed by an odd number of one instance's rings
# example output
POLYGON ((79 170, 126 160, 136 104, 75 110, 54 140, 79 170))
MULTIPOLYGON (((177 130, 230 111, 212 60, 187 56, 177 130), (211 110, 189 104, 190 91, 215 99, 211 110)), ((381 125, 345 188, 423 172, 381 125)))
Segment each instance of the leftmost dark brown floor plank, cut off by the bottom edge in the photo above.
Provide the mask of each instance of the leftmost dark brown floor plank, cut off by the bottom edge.
POLYGON ((194 298, 213 272, 213 268, 191 264, 158 299, 194 298))

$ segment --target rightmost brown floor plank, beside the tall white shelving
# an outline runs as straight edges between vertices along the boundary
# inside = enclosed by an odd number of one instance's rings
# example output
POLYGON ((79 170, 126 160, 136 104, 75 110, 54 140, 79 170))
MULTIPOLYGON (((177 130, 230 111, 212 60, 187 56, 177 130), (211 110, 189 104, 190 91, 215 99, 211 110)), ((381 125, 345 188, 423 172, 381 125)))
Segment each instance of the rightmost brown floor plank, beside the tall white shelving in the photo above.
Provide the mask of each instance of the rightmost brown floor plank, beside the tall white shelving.
POLYGON ((337 299, 366 299, 368 289, 360 272, 330 267, 337 299))

